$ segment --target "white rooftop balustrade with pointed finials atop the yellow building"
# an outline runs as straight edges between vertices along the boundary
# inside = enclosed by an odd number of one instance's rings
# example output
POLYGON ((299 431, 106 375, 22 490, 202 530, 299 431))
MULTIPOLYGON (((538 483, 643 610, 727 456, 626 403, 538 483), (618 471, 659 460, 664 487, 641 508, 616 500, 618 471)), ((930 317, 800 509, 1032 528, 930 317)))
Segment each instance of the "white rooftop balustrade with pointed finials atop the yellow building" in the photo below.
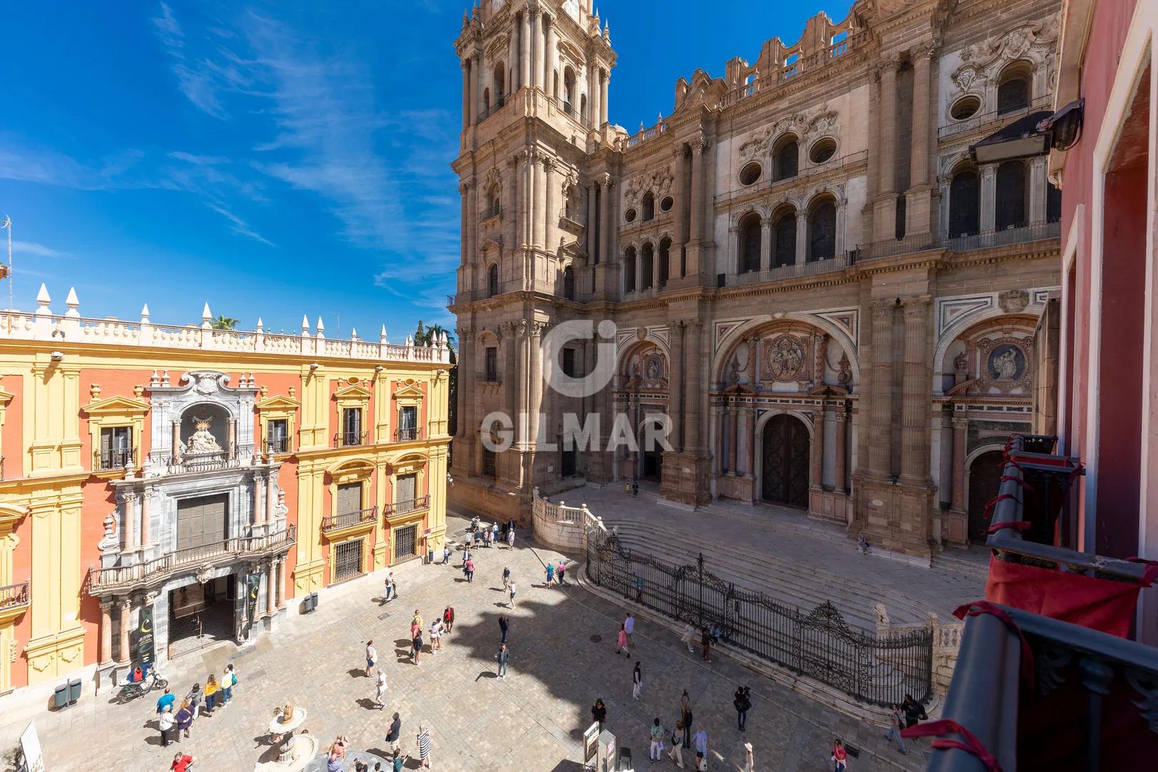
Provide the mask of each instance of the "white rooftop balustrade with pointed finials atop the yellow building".
POLYGON ((41 286, 37 295, 39 308, 34 313, 0 311, 0 340, 44 340, 49 344, 94 344, 107 346, 142 346, 151 348, 181 348, 234 353, 261 353, 300 356, 330 356, 396 362, 431 362, 449 365, 450 347, 445 337, 430 346, 415 345, 411 338, 402 345, 388 343, 386 328, 379 340, 361 340, 357 331, 349 339, 329 339, 322 319, 316 332, 302 318, 301 332, 284 334, 266 332, 262 321, 251 331, 219 330, 212 324, 208 304, 201 314, 201 324, 159 324, 149 319, 148 306, 141 309, 139 322, 116 318, 87 318, 78 311, 76 293, 69 292, 65 314, 53 314, 51 299, 41 286))

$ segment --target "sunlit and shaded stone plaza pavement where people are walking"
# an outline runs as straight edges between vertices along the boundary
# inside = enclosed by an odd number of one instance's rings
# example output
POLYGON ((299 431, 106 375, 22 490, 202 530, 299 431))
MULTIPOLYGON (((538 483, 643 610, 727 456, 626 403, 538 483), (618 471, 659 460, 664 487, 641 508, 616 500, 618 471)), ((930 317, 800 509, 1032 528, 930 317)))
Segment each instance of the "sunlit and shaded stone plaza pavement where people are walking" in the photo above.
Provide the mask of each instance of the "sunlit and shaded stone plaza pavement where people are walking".
MULTIPOLYGON (((452 515, 448 529, 461 534, 466 521, 452 515)), ((176 750, 197 757, 197 772, 251 770, 272 757, 265 727, 276 705, 306 707, 305 727, 322 748, 337 734, 354 749, 387 755, 384 734, 393 712, 402 715, 402 747, 416 753, 419 723, 431 728, 434 769, 454 772, 581 770, 581 731, 589 707, 601 697, 608 729, 631 748, 636 769, 675 769, 666 759, 647 762, 647 727, 659 716, 673 727, 682 690, 694 703, 696 723, 708 730, 712 770, 742 769, 745 741, 755 747, 757 770, 830 770, 833 737, 860 751, 850 770, 923 769, 926 750, 908 756, 889 748, 879 727, 812 703, 723 657, 711 664, 689 655, 674 635, 640 623, 631 660, 615 654, 620 608, 570 583, 543 588, 542 561, 559 554, 528 543, 515 549, 477 550, 475 582, 457 565, 410 563, 395 569, 401 596, 381 604, 382 573, 354 580, 323 595, 317 612, 291 616, 274 635, 236 650, 226 645, 191 654, 166 671, 174 692, 204 683, 226 661, 237 668, 234 701, 193 723, 192 737, 161 748, 154 701, 159 692, 129 705, 108 693, 86 691, 81 703, 36 720, 47 769, 168 770, 176 750), (518 581, 519 606, 505 608, 500 587, 508 565, 518 581), (419 666, 406 656, 409 622, 416 608, 428 625, 446 605, 457 622, 444 652, 424 654, 419 666), (510 675, 494 677, 498 617, 511 618, 510 675), (387 707, 373 707, 373 679, 362 676, 364 648, 374 639, 389 678, 387 707), (643 699, 631 700, 631 668, 643 662, 643 699), (748 731, 735 729, 732 694, 739 684, 753 690, 748 731)), ((0 748, 13 748, 24 725, 3 726, 0 748)), ((928 743, 925 743, 928 748, 928 743)), ((690 755, 686 766, 690 769, 690 755)), ((408 769, 417 769, 411 760, 408 769)))

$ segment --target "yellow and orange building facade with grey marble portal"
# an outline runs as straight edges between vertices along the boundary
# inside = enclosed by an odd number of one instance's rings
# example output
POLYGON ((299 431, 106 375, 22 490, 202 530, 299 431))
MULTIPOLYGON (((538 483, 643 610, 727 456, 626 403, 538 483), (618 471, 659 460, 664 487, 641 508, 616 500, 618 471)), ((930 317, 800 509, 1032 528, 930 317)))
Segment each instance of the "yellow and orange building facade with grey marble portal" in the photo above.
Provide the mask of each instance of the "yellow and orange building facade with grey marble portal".
POLYGON ((441 550, 449 347, 0 313, 0 697, 441 550))

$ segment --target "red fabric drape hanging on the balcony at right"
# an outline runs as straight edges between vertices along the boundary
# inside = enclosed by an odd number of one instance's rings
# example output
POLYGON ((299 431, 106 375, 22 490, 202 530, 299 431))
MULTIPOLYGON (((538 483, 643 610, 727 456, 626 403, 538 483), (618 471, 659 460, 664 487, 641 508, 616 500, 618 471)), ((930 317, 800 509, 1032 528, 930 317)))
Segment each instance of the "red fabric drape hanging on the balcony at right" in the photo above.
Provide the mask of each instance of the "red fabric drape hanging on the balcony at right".
POLYGON ((1129 584, 990 556, 985 600, 1126 638, 1138 590, 1152 584, 1156 578, 1158 564, 1148 565, 1142 583, 1129 584))

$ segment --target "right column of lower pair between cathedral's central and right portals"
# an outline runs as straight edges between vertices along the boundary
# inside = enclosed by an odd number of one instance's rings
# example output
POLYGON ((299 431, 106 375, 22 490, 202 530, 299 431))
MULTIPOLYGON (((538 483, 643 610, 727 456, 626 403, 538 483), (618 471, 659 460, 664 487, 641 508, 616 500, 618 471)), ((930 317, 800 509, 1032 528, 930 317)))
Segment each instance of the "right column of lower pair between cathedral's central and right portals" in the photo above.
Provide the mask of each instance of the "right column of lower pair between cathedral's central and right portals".
POLYGON ((930 297, 910 297, 904 304, 904 372, 901 402, 901 478, 910 484, 929 481, 930 297))

